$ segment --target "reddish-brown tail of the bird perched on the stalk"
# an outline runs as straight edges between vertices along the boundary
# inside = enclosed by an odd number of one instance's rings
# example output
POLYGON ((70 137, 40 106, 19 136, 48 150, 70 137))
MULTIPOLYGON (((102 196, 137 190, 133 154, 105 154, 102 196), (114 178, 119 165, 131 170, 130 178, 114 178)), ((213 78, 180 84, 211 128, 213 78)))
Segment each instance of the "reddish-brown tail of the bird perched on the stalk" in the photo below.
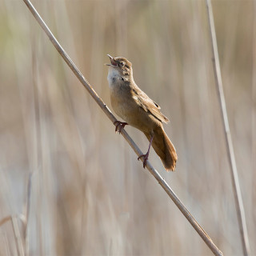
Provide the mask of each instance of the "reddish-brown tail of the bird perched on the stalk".
MULTIPOLYGON (((150 141, 150 134, 144 133, 150 141)), ((152 142, 154 151, 158 154, 166 170, 174 170, 178 159, 173 143, 168 138, 162 127, 154 130, 154 138, 152 142)))

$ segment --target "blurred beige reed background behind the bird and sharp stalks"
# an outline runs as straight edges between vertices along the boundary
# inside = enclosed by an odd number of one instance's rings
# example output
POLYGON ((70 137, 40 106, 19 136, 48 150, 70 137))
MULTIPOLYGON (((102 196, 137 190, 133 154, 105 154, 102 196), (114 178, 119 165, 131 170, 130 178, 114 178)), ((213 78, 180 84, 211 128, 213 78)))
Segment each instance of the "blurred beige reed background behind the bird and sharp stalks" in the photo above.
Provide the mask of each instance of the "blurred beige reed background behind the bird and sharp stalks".
MULTIPOLYGON (((110 106, 106 54, 170 118, 150 162, 225 255, 242 255, 204 1, 32 1, 110 106)), ((256 254, 256 9, 213 1, 251 255, 256 254)), ((211 255, 22 1, 0 0, 0 255, 211 255), (12 217, 12 218, 11 218, 12 217), (14 230, 16 230, 15 237, 14 230)), ((110 106, 111 109, 111 106, 110 106)), ((148 142, 126 126, 146 152, 148 142)))

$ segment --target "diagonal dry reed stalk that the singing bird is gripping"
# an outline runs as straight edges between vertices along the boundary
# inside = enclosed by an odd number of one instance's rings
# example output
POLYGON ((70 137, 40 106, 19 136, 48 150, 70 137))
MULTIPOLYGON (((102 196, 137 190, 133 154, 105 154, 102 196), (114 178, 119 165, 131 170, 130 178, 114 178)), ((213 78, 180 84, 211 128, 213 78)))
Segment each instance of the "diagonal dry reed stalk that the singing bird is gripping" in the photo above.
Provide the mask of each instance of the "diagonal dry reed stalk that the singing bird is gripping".
MULTIPOLYGON (((66 51, 63 50, 62 46, 58 43, 56 38, 54 38, 54 35, 51 33, 49 28, 46 26, 46 23, 42 20, 40 15, 38 14, 37 10, 34 9, 34 6, 31 4, 29 0, 23 0, 26 3, 26 6, 30 9, 30 12, 34 15, 34 18, 38 21, 39 25, 42 27, 42 30, 44 30, 50 39, 50 42, 53 43, 56 50, 58 50, 58 53, 62 56, 64 61, 68 66, 70 66, 70 69, 74 72, 76 77, 80 82, 82 82, 82 85, 88 90, 92 98, 94 98, 95 102, 98 103, 98 106, 101 107, 103 112, 106 114, 108 118, 110 118, 111 122, 117 121, 117 119, 114 117, 114 114, 110 112, 110 109, 104 102, 102 102, 102 99, 98 97, 98 94, 94 91, 94 89, 90 86, 89 82, 87 82, 86 78, 82 76, 82 73, 78 70, 77 66, 74 65, 74 62, 70 59, 68 54, 66 54, 66 51)), ((142 151, 138 148, 138 146, 134 143, 134 141, 130 138, 130 135, 126 133, 126 130, 121 131, 122 136, 126 139, 126 142, 129 143, 129 145, 132 147, 134 152, 139 156, 142 154, 142 151)), ((142 161, 144 159, 142 158, 142 161)), ((160 174, 158 174, 158 171, 154 169, 154 167, 150 164, 149 161, 146 162, 146 168, 150 171, 150 174, 156 178, 160 186, 166 191, 166 194, 169 195, 169 197, 173 200, 176 206, 178 206, 178 209, 181 210, 182 214, 186 217, 186 219, 190 222, 190 224, 194 227, 194 230, 198 232, 200 237, 203 239, 204 242, 206 242, 206 245, 212 250, 212 252, 215 255, 222 255, 221 250, 218 249, 217 246, 215 246, 214 242, 210 239, 208 234, 202 229, 202 227, 198 224, 198 222, 194 219, 194 217, 190 214, 190 212, 186 209, 186 207, 182 204, 182 202, 179 200, 176 194, 174 194, 174 191, 170 188, 170 186, 166 183, 166 181, 161 177, 160 174)))

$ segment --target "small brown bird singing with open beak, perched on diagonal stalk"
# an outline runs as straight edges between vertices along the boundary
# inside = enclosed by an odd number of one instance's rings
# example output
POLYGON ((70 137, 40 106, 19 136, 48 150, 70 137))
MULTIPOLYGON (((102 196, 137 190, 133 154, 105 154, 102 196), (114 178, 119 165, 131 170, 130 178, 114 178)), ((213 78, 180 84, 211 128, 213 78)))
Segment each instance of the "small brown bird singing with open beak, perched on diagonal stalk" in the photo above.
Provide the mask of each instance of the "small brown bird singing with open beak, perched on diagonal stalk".
MULTIPOLYGON (((166 170, 174 170, 177 161, 177 154, 170 138, 163 130, 162 122, 169 122, 160 112, 160 106, 152 101, 134 82, 132 64, 126 58, 113 58, 108 54, 111 64, 107 80, 110 86, 111 105, 116 114, 125 122, 115 122, 116 131, 124 126, 134 126, 141 130, 160 157, 166 170)), ((150 146, 144 157, 143 167, 150 154, 150 146)))

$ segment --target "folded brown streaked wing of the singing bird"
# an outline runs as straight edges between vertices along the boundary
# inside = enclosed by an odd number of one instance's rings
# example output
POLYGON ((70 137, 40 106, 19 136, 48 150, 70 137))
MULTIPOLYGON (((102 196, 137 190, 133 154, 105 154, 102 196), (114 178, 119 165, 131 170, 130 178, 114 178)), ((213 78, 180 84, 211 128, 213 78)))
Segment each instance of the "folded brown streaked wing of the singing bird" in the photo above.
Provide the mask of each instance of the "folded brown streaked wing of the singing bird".
POLYGON ((149 112, 161 122, 169 122, 169 119, 160 112, 161 107, 156 102, 153 102, 142 90, 137 87, 133 89, 132 93, 134 94, 134 100, 143 110, 149 112))

